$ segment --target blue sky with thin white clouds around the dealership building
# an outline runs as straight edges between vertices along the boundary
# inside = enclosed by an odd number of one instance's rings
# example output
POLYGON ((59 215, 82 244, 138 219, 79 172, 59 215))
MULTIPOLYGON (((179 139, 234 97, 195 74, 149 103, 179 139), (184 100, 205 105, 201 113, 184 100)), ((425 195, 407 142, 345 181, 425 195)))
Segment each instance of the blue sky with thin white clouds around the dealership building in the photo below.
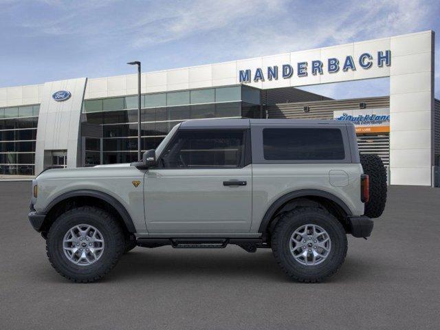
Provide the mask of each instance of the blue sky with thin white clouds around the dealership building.
MULTIPOLYGON (((131 74, 309 50, 424 30, 440 1, 0 0, 0 87, 131 74)), ((435 96, 440 98, 436 35, 435 96)), ((388 78, 304 87, 383 96, 388 78)))

